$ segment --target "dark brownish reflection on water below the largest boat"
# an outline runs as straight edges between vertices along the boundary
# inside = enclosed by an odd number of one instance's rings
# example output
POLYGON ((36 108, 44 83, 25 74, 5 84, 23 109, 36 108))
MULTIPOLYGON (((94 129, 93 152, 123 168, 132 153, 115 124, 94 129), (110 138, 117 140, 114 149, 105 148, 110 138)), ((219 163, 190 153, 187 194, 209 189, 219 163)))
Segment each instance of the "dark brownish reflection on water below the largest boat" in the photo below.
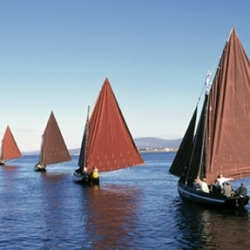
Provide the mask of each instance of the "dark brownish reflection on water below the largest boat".
POLYGON ((177 242, 182 249, 249 249, 249 214, 241 211, 218 211, 180 203, 175 224, 177 242))

